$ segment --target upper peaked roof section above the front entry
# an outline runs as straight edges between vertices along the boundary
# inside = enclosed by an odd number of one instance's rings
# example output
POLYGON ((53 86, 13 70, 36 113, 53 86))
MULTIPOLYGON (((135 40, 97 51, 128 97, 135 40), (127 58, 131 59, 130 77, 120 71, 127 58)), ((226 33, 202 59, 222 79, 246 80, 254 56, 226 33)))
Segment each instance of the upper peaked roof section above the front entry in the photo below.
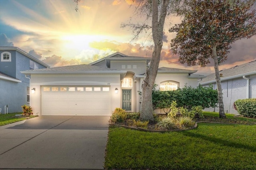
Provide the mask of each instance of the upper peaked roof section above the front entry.
POLYGON ((128 56, 120 52, 116 52, 114 54, 108 55, 102 59, 89 63, 89 65, 94 65, 100 63, 102 61, 106 61, 106 65, 109 66, 110 61, 146 61, 147 64, 150 62, 150 57, 136 57, 136 56, 128 56))

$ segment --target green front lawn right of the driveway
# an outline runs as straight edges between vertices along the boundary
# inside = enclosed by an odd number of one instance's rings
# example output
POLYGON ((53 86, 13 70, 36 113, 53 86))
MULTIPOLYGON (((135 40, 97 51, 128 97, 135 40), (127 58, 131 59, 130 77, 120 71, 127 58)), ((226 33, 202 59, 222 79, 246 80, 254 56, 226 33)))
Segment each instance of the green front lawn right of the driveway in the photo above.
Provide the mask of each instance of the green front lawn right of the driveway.
MULTIPOLYGON (((232 115, 228 119, 248 121, 232 115)), ((199 123, 194 130, 168 133, 113 126, 109 128, 105 168, 255 170, 256 125, 199 123)))

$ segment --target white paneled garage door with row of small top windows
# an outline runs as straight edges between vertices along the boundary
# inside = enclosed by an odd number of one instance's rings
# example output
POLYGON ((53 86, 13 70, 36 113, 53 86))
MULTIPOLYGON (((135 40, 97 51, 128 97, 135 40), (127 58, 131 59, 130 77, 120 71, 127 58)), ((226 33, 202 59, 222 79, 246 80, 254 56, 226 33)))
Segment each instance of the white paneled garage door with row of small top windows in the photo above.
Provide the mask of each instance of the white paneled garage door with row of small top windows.
POLYGON ((109 86, 42 86, 42 115, 111 115, 109 86))

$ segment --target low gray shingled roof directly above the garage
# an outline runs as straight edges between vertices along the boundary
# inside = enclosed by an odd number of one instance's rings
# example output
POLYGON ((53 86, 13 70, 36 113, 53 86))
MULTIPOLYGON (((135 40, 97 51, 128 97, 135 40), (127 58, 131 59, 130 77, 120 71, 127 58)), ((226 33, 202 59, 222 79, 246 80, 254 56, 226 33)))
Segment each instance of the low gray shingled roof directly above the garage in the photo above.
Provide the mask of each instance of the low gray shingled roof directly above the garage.
POLYGON ((23 74, 110 74, 110 73, 126 73, 126 71, 104 68, 99 66, 91 66, 88 64, 61 66, 52 68, 41 68, 36 70, 21 71, 23 74))

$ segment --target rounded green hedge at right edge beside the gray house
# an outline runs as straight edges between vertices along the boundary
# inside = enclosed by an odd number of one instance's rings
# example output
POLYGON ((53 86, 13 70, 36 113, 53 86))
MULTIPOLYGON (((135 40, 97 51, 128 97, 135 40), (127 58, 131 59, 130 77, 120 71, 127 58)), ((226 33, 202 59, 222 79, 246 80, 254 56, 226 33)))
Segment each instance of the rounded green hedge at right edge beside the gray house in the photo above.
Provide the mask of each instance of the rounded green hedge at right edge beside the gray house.
POLYGON ((239 99, 235 101, 235 105, 240 115, 256 118, 256 98, 239 99))

